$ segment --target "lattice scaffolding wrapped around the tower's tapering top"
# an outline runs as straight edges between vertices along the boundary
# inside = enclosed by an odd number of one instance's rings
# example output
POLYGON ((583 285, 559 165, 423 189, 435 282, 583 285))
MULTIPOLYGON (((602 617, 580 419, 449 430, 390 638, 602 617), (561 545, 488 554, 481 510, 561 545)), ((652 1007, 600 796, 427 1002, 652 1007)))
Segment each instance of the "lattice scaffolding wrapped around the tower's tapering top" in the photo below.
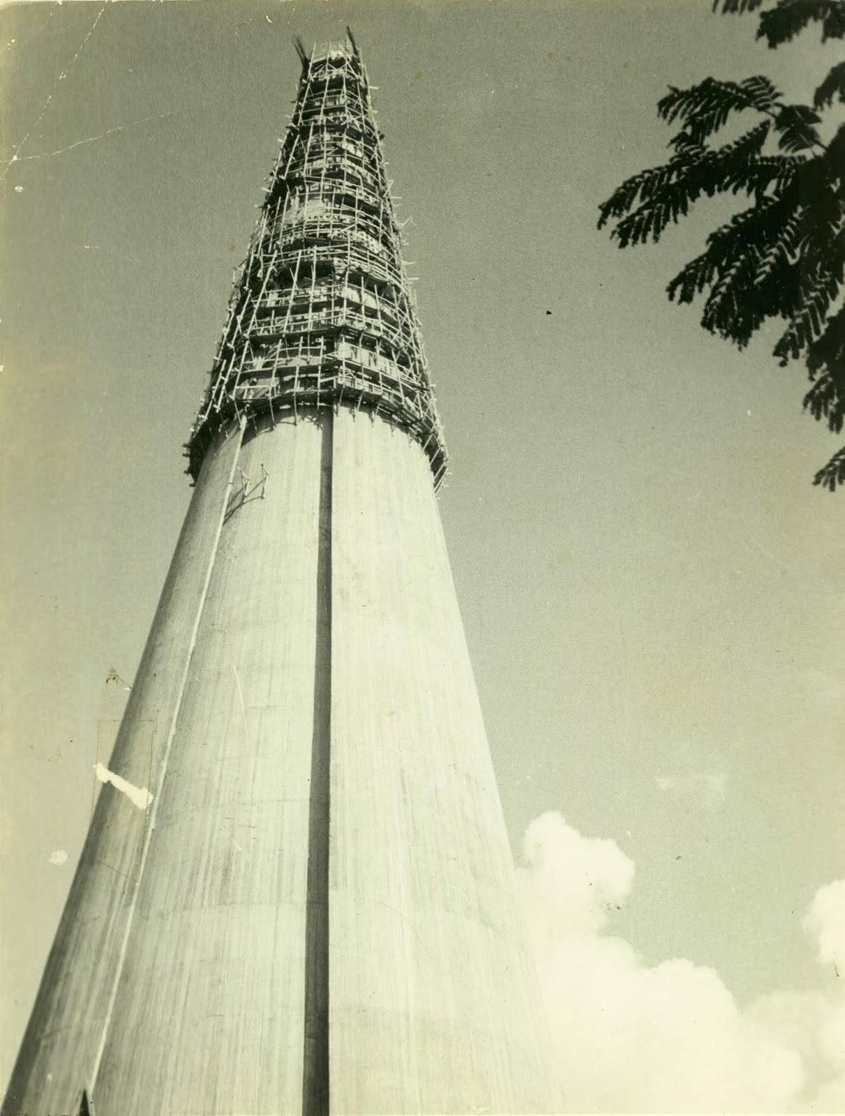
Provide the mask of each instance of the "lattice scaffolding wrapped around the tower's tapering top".
POLYGON ((297 49, 290 127, 236 271, 188 472, 196 478, 232 415, 344 406, 414 436, 438 487, 445 446, 366 71, 351 33, 310 56, 297 49))

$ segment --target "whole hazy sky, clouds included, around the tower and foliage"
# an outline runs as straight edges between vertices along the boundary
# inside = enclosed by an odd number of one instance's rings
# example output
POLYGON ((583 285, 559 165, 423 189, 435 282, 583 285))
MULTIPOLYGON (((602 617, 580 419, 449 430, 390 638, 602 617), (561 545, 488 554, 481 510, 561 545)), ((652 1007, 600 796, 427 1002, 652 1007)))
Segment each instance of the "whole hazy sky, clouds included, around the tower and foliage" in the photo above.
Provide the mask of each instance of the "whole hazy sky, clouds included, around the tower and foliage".
POLYGON ((843 1112, 842 519, 799 367, 620 252, 668 85, 772 52, 707 0, 0 9, 0 1077, 190 498, 181 444, 307 46, 352 26, 448 446, 440 497, 575 1112, 843 1112), (413 261, 413 262, 412 262, 413 261), (837 883, 838 881, 838 883, 837 883), (838 963, 837 963, 838 961, 838 963))

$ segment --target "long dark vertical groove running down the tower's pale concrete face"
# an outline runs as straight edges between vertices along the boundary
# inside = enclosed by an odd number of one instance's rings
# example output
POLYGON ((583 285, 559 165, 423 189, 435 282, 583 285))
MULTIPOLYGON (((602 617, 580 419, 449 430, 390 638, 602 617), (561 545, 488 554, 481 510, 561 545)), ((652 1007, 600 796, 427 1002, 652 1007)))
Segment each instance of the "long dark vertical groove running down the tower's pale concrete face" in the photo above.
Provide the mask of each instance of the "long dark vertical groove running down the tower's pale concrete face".
POLYGON ((332 468, 334 414, 319 416, 320 492, 317 542, 317 633, 314 730, 308 802, 305 913, 305 1056, 303 1116, 328 1116, 328 834, 332 758, 332 468))

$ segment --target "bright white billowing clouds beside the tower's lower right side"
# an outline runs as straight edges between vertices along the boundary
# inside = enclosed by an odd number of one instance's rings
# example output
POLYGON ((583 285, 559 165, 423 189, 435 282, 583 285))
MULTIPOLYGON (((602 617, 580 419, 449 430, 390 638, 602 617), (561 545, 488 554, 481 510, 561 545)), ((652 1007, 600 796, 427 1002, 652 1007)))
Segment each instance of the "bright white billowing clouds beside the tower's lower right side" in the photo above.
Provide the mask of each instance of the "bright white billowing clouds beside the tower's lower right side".
MULTIPOLYGON (((713 969, 683 958, 646 965, 603 933, 634 878, 615 841, 545 814, 525 852, 520 894, 570 1112, 807 1112, 808 1093, 814 1112, 845 1110, 834 1049, 845 998, 782 992, 740 1008, 713 969)), ((833 886, 808 915, 819 934, 833 886)))

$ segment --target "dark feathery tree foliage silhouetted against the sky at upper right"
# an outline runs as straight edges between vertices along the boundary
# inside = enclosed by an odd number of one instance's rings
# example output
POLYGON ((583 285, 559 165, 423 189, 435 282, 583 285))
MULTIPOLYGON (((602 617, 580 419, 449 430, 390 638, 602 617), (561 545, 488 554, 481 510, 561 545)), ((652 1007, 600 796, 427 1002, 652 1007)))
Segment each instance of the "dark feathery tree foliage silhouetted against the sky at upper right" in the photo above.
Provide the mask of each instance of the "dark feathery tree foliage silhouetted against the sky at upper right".
MULTIPOLYGON (((822 38, 845 37, 845 0, 716 0, 724 13, 759 10, 758 38, 788 42, 812 25, 822 38), (760 10, 762 9, 762 10, 760 10)), ((633 175, 601 206, 621 248, 660 240, 702 195, 741 194, 749 205, 707 240, 705 250, 669 283, 671 300, 704 297, 701 325, 748 345, 769 318, 786 329, 774 355, 781 365, 801 359, 812 387, 804 407, 834 433, 845 422, 845 125, 824 144, 819 115, 845 103, 845 62, 830 70, 813 105, 784 100, 762 76, 743 81, 709 77, 690 89, 670 90, 660 117, 680 126, 662 166, 633 175), (736 114, 755 114, 730 143, 714 137, 736 114)), ((845 449, 820 469, 814 483, 830 491, 845 484, 845 449)))

